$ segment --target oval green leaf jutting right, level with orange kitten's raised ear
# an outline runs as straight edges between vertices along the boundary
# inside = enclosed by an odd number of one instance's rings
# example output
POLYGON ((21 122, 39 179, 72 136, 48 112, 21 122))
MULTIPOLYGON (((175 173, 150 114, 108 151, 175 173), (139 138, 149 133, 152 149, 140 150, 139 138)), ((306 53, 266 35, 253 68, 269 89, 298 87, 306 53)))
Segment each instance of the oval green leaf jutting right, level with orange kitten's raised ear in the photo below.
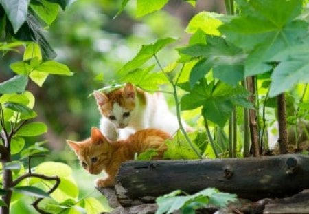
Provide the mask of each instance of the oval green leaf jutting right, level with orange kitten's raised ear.
POLYGON ((32 137, 39 136, 47 131, 47 126, 43 122, 30 122, 21 127, 15 136, 32 137))

